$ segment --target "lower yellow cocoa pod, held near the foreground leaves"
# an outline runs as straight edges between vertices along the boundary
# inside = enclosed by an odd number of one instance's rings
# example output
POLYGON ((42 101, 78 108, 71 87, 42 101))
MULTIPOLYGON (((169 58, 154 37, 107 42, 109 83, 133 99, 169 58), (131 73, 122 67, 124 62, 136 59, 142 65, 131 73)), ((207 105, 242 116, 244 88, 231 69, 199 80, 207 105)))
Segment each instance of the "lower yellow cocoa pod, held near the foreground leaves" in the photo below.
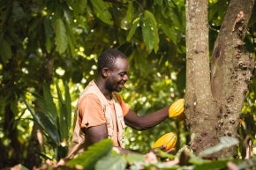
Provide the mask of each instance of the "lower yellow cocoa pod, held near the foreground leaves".
POLYGON ((167 134, 164 134, 162 137, 159 137, 156 142, 153 144, 154 148, 163 148, 163 151, 167 152, 171 148, 174 148, 175 144, 177 142, 177 135, 173 132, 169 132, 167 134))

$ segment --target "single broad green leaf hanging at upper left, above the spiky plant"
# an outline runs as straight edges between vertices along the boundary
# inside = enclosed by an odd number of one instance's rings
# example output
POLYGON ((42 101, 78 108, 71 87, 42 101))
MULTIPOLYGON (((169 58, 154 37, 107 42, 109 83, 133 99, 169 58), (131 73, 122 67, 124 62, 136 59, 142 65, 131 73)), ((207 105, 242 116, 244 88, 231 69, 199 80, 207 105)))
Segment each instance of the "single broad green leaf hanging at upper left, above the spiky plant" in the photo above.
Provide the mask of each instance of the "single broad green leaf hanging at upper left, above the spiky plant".
POLYGON ((59 54, 62 54, 64 53, 64 51, 68 46, 68 37, 66 34, 64 21, 61 18, 56 19, 54 31, 56 33, 56 38, 55 38, 56 51, 59 52, 59 54))

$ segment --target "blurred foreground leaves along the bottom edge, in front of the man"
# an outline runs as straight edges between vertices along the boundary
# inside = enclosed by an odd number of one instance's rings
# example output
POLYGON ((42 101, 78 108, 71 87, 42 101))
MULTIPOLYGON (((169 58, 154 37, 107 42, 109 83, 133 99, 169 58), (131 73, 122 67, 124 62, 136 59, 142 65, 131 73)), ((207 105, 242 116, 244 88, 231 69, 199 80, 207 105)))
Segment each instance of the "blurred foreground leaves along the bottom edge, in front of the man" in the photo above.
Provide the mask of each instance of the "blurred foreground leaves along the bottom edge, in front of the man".
MULTIPOLYGON (((232 137, 222 137, 221 143, 223 148, 232 146, 233 141, 236 141, 232 137), (223 144, 222 141, 226 141, 223 144), (230 144, 229 144, 230 142, 230 144)), ((215 146, 211 152, 217 152, 215 146)), ((160 155, 162 151, 155 151, 160 155)), ((233 159, 220 159, 220 160, 206 160, 199 156, 195 156, 186 147, 180 149, 177 156, 173 157, 169 153, 165 153, 165 157, 158 157, 156 162, 147 162, 145 155, 139 153, 128 153, 126 155, 112 151, 112 141, 110 139, 104 139, 96 144, 91 145, 86 152, 81 153, 77 158, 69 160, 64 166, 76 168, 76 169, 111 169, 111 170, 124 170, 124 169, 223 169, 228 168, 229 164, 234 164, 237 167, 249 167, 246 163, 241 164, 233 159), (181 165, 183 161, 183 155, 187 155, 187 162, 181 165), (166 159, 169 158, 169 159, 166 159), (162 160, 161 160, 162 159, 162 160), (179 159, 179 161, 178 161, 179 159), (231 162, 232 161, 232 162, 231 162)))

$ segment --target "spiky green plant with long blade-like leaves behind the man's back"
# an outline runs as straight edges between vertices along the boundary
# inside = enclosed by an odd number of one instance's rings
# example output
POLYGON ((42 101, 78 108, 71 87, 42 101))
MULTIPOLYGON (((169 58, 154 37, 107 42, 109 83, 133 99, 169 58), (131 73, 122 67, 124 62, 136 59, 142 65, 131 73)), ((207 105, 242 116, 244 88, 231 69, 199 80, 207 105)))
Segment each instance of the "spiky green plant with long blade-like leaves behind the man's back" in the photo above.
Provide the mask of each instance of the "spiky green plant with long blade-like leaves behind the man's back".
POLYGON ((55 159, 64 158, 67 153, 67 141, 70 138, 70 128, 72 122, 72 105, 69 87, 64 83, 64 98, 59 85, 56 84, 57 104, 54 100, 50 87, 43 84, 43 95, 34 93, 36 97, 35 108, 26 100, 26 107, 43 129, 48 143, 55 151, 55 159))

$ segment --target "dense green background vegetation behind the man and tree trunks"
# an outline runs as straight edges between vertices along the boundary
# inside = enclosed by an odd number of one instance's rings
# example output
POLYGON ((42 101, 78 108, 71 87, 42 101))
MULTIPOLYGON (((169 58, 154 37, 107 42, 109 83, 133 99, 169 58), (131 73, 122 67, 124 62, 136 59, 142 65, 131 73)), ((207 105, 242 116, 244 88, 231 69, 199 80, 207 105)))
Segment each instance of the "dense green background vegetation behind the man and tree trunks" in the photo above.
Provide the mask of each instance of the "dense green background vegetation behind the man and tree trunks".
MULTIPOLYGON (((227 5, 210 1, 210 52, 227 5)), ((129 57, 121 94, 139 115, 184 98, 184 1, 1 0, 0 11, 0 167, 64 157, 79 92, 105 48, 129 57)), ((254 58, 255 20, 254 13, 245 39, 254 58)), ((250 89, 239 134, 254 144, 255 78, 250 89)), ((188 144, 184 120, 175 118, 146 131, 126 129, 126 148, 148 152, 169 131, 178 136, 177 151, 188 144)))

